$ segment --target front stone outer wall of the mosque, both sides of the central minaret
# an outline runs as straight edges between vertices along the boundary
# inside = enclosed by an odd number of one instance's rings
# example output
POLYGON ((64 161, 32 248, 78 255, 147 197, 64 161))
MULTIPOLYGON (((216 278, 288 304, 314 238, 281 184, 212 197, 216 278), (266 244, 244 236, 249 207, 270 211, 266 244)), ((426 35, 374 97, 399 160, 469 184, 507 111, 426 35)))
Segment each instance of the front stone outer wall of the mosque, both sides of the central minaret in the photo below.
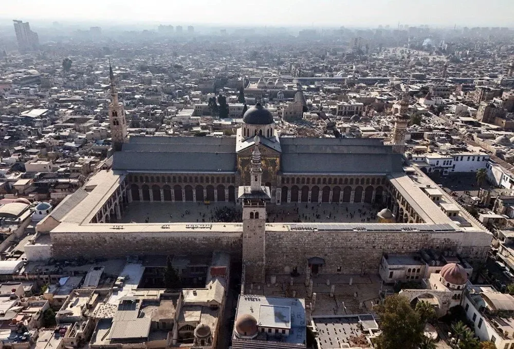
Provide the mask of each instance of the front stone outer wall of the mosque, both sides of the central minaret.
MULTIPOLYGON (((123 258, 143 255, 205 255, 213 251, 242 258, 242 233, 223 232, 56 232, 57 259, 123 258)), ((267 231, 266 274, 304 273, 307 258, 322 257, 321 274, 376 274, 382 254, 413 253, 421 248, 453 248, 461 256, 485 260, 491 243, 486 232, 267 231), (341 272, 337 268, 341 267, 341 272)))

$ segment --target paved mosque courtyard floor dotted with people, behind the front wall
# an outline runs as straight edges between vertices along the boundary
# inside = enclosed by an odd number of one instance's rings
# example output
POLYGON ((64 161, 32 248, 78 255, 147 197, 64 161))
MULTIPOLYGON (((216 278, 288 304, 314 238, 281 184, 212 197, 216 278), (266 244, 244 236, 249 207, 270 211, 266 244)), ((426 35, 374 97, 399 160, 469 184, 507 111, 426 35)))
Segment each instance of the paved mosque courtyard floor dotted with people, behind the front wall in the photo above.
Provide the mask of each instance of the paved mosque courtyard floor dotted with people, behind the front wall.
MULTIPOLYGON (((132 202, 125 210, 120 223, 213 222, 217 208, 240 205, 215 202, 208 205, 196 202, 132 202)), ((273 222, 376 222, 376 213, 383 207, 366 203, 317 204, 299 203, 267 206, 268 221, 273 222)))

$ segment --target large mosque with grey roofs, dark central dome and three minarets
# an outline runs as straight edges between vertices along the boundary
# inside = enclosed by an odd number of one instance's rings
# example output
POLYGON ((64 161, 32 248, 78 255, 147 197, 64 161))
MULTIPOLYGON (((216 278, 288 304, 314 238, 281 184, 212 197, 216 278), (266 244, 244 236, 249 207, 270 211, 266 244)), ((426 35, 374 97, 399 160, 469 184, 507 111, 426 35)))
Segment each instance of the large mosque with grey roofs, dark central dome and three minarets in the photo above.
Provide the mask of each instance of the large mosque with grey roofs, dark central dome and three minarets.
MULTIPOLYGON (((270 83, 271 85, 271 83, 270 83)), ((378 272, 384 253, 454 250, 484 260, 490 232, 402 157, 406 100, 391 144, 380 139, 280 137, 271 113, 249 108, 236 137, 127 137, 111 70, 112 170, 96 173, 41 221, 53 258, 230 253, 246 282, 271 275, 378 272), (242 205, 237 223, 120 223, 134 202, 242 205), (378 207, 377 221, 267 221, 270 207, 378 207), (365 256, 365 258, 363 258, 365 256)), ((44 253, 40 255, 45 255, 44 253)))

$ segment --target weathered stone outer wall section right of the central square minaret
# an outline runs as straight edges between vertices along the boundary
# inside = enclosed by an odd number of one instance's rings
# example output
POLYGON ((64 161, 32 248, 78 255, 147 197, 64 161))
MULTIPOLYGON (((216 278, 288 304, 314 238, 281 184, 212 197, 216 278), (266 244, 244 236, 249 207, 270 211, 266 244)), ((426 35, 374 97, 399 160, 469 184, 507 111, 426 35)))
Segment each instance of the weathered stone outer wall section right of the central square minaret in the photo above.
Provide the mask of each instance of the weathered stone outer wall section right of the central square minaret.
POLYGON ((266 274, 289 274, 294 267, 303 274, 310 257, 325 260, 321 274, 376 274, 383 253, 422 248, 452 248, 470 261, 485 261, 491 239, 486 232, 268 231, 266 274))

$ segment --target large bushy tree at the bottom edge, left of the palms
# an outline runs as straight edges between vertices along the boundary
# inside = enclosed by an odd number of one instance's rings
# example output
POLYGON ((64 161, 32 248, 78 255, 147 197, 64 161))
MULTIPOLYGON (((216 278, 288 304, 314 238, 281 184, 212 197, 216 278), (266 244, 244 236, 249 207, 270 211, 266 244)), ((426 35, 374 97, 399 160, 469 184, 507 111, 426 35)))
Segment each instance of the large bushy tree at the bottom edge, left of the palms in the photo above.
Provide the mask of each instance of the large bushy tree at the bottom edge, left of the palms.
POLYGON ((401 295, 386 298, 377 306, 382 333, 377 337, 379 349, 417 349, 423 340, 425 325, 409 300, 401 295))

